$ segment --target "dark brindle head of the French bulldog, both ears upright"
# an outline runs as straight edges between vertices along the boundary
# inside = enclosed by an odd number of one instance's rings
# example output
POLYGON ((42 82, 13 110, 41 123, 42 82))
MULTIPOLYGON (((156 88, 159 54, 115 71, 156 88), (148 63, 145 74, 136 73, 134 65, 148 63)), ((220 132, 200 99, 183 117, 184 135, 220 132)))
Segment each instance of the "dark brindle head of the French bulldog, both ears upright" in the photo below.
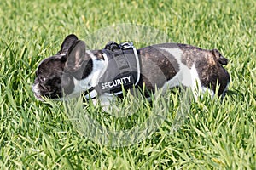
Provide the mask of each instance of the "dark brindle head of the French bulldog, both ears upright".
POLYGON ((37 99, 61 99, 73 94, 75 83, 92 71, 92 59, 85 53, 85 43, 75 35, 62 42, 61 50, 40 62, 32 91, 37 99))

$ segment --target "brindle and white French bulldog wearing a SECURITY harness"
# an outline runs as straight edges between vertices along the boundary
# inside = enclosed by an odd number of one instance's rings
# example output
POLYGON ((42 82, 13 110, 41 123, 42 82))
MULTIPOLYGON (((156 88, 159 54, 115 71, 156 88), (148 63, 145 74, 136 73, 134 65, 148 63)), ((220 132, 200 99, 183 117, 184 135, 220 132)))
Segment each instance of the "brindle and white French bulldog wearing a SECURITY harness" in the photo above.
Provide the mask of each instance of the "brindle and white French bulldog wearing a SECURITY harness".
MULTIPOLYGON (((42 101, 45 98, 62 100, 85 93, 87 97, 106 101, 121 95, 125 83, 129 84, 125 90, 147 89, 147 97, 157 88, 180 85, 209 92, 212 96, 218 91, 218 96, 224 96, 230 82, 230 75, 223 67, 228 64, 228 59, 217 49, 207 50, 181 43, 162 43, 139 49, 132 43, 121 46, 136 55, 136 59, 129 58, 137 60, 137 65, 131 66, 134 68, 123 77, 118 75, 118 78, 105 80, 108 72, 118 69, 116 65, 111 66, 108 55, 112 59, 118 59, 119 52, 124 56, 120 45, 111 42, 100 50, 86 50, 84 41, 73 34, 68 35, 57 54, 39 63, 32 85, 35 97, 42 101), (131 81, 131 76, 135 80, 131 81), (119 92, 111 89, 117 86, 119 92)), ((122 59, 120 62, 124 63, 122 59)))

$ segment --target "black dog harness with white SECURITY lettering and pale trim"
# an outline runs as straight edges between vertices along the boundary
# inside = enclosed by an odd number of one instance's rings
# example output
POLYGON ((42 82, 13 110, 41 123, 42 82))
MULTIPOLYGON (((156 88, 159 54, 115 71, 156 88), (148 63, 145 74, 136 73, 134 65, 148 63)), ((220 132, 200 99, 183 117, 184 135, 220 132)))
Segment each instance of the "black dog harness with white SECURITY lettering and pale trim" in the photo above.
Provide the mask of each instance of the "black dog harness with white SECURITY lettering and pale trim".
POLYGON ((108 42, 102 52, 108 62, 107 69, 96 87, 85 92, 86 98, 94 99, 97 94, 118 95, 137 86, 141 74, 140 59, 132 42, 108 42))

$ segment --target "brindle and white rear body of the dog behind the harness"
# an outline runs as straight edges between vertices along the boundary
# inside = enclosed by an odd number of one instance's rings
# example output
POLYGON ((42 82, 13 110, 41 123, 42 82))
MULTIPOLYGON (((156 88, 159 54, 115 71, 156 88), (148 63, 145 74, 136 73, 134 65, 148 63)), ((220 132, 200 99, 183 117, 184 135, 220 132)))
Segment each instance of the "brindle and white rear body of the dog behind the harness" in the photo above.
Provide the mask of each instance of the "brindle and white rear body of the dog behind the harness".
POLYGON ((179 85, 210 88, 218 87, 223 95, 230 82, 230 75, 223 65, 228 64, 217 49, 201 49, 187 44, 163 43, 138 49, 142 60, 142 81, 153 90, 168 83, 170 88, 179 85), (198 82, 196 82, 198 81, 198 82), (193 85, 194 84, 194 85, 193 85), (198 85, 198 84, 197 84, 198 85))

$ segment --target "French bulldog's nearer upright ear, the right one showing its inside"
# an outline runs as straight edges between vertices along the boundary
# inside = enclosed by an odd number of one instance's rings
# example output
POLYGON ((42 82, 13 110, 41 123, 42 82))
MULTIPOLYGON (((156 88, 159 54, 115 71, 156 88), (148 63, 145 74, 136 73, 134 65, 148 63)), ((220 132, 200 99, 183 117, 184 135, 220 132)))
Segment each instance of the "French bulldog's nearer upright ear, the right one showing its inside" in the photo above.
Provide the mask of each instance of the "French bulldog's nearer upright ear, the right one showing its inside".
POLYGON ((69 48, 67 52, 67 61, 65 63, 65 69, 69 72, 79 71, 84 64, 84 61, 89 60, 90 56, 85 53, 84 41, 78 40, 73 43, 73 46, 69 48))

